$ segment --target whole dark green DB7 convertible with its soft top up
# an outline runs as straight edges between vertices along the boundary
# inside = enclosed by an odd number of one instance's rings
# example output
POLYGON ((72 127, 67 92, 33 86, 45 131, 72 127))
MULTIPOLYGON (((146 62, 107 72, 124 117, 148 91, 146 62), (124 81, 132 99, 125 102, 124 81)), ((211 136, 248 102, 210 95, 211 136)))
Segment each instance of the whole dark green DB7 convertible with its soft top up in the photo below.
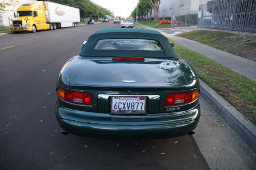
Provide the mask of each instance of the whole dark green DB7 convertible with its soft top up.
POLYGON ((172 47, 154 30, 96 31, 58 76, 61 133, 108 139, 194 134, 199 79, 172 47))

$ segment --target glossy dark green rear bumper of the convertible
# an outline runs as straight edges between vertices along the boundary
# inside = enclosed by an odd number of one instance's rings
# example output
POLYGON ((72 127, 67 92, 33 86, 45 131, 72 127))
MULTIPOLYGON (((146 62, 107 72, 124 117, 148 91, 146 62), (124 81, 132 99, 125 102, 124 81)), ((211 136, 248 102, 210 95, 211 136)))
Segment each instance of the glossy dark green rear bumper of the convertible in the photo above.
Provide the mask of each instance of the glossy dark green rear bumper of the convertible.
POLYGON ((160 139, 183 136, 194 130, 200 118, 199 103, 188 111, 145 116, 119 116, 75 111, 56 103, 58 124, 78 136, 108 139, 160 139))

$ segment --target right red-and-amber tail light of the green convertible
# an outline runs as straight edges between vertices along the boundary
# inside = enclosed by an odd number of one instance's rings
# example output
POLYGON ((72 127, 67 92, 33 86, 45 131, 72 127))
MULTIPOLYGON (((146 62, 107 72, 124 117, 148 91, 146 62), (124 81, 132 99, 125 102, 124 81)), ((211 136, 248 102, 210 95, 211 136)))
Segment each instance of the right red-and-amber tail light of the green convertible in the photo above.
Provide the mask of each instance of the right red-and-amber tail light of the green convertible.
POLYGON ((192 91, 189 93, 179 93, 179 94, 167 94, 165 99, 165 105, 182 105, 190 103, 198 99, 198 91, 192 91))

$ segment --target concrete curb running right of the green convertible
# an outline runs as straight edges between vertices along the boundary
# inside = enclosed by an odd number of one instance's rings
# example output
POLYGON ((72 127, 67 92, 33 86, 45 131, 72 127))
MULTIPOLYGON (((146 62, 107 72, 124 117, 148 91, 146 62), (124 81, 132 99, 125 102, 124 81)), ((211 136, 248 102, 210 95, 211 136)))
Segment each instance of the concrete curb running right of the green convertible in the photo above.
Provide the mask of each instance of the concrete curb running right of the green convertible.
POLYGON ((213 110, 256 152, 256 126, 200 79, 200 95, 213 110))

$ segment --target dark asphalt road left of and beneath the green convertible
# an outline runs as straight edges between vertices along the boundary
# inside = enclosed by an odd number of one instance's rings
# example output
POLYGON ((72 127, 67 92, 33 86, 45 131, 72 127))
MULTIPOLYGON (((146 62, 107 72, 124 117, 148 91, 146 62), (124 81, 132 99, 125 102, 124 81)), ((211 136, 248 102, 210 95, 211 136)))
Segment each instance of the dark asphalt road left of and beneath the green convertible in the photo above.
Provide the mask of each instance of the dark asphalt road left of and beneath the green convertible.
POLYGON ((99 23, 0 36, 1 170, 209 169, 188 135, 111 140, 60 133, 55 84, 62 65, 93 32, 117 27, 99 23))

